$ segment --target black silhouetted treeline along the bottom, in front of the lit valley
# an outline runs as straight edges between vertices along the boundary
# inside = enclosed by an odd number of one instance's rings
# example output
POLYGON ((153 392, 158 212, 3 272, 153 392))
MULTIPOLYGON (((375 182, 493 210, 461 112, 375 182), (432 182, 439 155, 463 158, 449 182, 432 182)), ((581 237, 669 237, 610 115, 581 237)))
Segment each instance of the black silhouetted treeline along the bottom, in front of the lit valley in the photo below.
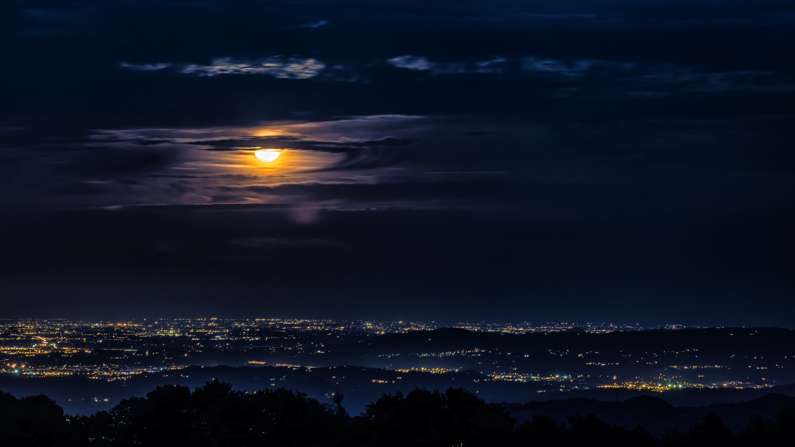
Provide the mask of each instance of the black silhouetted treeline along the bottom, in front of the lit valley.
POLYGON ((246 393, 213 380, 194 391, 157 387, 111 410, 69 416, 44 395, 0 392, 0 445, 712 447, 789 445, 795 439, 795 408, 779 411, 774 420, 753 418, 736 434, 709 414, 689 430, 655 437, 640 426, 610 426, 592 414, 572 415, 566 424, 545 416, 517 424, 501 407, 461 388, 383 395, 353 417, 341 395, 334 402, 284 389, 246 393))

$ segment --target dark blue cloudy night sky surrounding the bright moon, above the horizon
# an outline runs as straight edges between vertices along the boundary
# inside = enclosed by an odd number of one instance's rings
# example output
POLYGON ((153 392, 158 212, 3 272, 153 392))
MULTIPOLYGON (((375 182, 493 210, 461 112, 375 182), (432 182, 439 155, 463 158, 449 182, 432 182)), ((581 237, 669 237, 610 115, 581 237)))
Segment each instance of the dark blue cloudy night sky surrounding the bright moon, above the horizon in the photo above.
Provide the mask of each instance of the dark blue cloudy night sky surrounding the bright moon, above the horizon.
POLYGON ((6 0, 0 49, 0 317, 795 326, 789 0, 6 0))

